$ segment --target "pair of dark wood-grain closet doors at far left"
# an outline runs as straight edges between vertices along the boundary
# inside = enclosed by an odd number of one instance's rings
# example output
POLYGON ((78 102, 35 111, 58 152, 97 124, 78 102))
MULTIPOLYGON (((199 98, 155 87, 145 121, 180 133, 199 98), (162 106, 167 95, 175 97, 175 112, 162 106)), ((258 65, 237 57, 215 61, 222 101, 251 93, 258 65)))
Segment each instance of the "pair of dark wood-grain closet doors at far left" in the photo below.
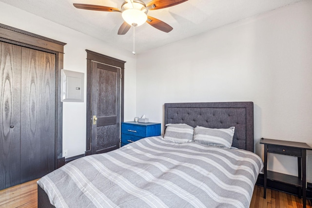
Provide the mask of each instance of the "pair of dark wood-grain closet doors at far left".
POLYGON ((0 42, 0 189, 55 170, 56 56, 0 42))

